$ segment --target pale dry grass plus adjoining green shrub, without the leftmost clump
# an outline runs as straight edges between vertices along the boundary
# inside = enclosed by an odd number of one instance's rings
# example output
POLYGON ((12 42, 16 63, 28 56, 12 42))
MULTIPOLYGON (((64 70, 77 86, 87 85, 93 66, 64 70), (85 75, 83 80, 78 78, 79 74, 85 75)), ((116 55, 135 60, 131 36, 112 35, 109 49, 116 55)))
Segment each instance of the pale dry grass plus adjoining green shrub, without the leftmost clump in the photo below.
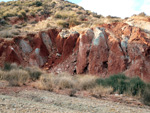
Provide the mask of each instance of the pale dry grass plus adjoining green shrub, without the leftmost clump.
POLYGON ((101 98, 113 93, 125 94, 142 98, 147 105, 150 103, 150 85, 146 85, 140 78, 129 78, 124 74, 116 74, 106 79, 91 75, 71 76, 63 74, 41 75, 37 85, 39 89, 53 91, 55 89, 70 89, 69 95, 75 95, 76 91, 87 91, 91 96, 101 98), (72 92, 74 92, 72 94, 72 92))

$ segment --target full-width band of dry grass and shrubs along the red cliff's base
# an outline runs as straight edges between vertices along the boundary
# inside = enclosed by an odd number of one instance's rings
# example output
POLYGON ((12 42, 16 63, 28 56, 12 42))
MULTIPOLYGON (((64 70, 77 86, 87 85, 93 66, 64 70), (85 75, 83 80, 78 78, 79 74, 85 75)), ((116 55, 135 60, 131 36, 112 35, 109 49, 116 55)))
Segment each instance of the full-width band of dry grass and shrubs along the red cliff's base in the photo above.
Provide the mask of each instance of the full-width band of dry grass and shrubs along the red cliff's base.
POLYGON ((22 68, 14 63, 6 63, 0 70, 0 80, 7 80, 11 86, 22 86, 32 80, 33 86, 38 89, 48 91, 69 89, 70 96, 74 96, 77 91, 87 91, 96 98, 119 93, 142 98, 146 105, 150 105, 150 85, 139 77, 129 78, 124 74, 101 79, 91 75, 48 74, 36 67, 22 68))

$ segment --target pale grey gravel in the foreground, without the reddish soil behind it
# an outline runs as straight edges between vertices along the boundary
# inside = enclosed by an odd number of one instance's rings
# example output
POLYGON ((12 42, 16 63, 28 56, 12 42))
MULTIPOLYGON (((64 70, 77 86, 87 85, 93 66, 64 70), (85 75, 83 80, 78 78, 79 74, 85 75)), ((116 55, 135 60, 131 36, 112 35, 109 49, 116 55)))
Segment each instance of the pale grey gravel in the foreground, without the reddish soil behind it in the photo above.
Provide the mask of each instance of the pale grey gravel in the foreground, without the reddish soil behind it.
POLYGON ((43 90, 0 95, 0 113, 150 113, 150 108, 43 90))

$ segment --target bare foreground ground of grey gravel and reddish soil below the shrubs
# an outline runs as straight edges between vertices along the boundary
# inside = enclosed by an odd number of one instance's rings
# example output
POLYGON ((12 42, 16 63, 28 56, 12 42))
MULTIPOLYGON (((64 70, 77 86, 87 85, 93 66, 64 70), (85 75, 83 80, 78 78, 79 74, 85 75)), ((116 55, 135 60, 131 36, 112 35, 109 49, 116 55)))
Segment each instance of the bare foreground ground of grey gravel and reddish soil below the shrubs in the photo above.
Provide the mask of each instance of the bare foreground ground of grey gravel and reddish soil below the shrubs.
POLYGON ((140 101, 123 95, 107 95, 96 99, 86 91, 68 96, 69 89, 54 92, 37 90, 31 84, 11 87, 0 81, 1 113, 149 113, 150 108, 140 101))

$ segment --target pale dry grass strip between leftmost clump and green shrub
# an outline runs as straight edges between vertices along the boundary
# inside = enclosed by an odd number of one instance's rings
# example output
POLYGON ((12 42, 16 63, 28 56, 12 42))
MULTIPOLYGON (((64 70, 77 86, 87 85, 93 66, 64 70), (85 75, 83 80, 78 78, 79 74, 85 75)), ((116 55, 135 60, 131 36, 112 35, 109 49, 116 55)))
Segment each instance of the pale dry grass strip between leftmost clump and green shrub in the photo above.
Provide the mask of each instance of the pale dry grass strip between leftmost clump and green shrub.
POLYGON ((69 96, 75 96, 77 91, 86 90, 96 98, 101 98, 113 92, 113 88, 98 85, 96 80, 97 77, 91 75, 71 76, 68 73, 58 75, 51 73, 41 75, 34 87, 48 91, 68 89, 70 91, 69 96))

